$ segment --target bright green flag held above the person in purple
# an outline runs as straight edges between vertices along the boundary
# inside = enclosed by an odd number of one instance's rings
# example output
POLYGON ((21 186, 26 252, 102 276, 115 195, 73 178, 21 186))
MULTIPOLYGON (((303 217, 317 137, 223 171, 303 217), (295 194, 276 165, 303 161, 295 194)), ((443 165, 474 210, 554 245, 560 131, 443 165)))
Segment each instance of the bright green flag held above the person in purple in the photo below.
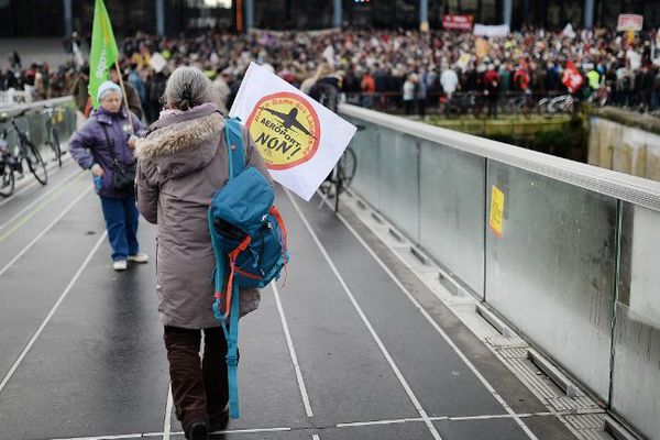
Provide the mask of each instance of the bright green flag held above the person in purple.
POLYGON ((89 87, 94 108, 99 107, 97 91, 99 86, 108 80, 108 70, 119 58, 119 50, 112 33, 112 24, 103 0, 96 0, 94 7, 94 29, 91 31, 91 52, 89 53, 89 87))

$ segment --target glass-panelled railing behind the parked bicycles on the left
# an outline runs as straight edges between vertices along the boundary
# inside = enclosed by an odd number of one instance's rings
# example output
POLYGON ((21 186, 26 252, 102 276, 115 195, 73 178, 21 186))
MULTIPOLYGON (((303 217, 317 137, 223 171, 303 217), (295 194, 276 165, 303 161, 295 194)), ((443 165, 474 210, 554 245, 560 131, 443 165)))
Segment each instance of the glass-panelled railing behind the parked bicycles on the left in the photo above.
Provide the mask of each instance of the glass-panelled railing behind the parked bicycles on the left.
MULTIPOLYGON (((46 107, 61 107, 64 109, 64 111, 59 112, 54 118, 54 122, 59 129, 59 142, 62 143, 62 148, 66 150, 66 141, 76 131, 77 113, 73 97, 54 98, 22 106, 3 107, 0 108, 0 113, 7 113, 10 117, 14 117, 28 109, 29 111, 24 117, 16 119, 18 125, 21 130, 28 130, 28 136, 37 147, 40 147, 40 150, 50 151, 50 147, 44 145, 47 139, 46 120, 50 118, 50 116, 43 112, 46 107)), ((15 146, 18 143, 18 135, 10 122, 0 123, 0 133, 4 132, 4 130, 7 130, 7 142, 9 146, 15 146)), ((44 158, 50 157, 51 154, 46 152, 44 158)))

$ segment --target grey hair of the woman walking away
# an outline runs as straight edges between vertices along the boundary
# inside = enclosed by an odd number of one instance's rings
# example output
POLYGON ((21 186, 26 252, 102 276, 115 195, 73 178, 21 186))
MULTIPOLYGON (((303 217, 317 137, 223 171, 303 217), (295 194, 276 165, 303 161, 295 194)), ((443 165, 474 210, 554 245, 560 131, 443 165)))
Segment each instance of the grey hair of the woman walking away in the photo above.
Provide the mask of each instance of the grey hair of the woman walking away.
POLYGON ((221 99, 211 80, 197 67, 178 67, 165 86, 165 105, 172 109, 188 110, 212 102, 221 106, 221 99))

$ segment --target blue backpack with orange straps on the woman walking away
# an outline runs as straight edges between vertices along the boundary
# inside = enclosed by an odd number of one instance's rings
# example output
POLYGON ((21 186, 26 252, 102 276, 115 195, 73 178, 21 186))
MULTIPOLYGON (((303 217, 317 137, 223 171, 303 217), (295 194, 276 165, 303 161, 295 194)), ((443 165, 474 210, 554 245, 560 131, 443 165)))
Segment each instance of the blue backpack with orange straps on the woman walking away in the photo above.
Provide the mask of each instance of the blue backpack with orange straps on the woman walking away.
POLYGON ((209 232, 216 255, 213 312, 227 339, 229 414, 239 418, 239 288, 266 287, 288 263, 286 227, 273 206, 275 193, 254 167, 245 166, 241 123, 226 119, 229 182, 209 207, 209 232), (223 286, 227 290, 223 293, 223 286), (226 311, 221 310, 224 297, 226 311), (229 330, 227 323, 229 321, 229 330))

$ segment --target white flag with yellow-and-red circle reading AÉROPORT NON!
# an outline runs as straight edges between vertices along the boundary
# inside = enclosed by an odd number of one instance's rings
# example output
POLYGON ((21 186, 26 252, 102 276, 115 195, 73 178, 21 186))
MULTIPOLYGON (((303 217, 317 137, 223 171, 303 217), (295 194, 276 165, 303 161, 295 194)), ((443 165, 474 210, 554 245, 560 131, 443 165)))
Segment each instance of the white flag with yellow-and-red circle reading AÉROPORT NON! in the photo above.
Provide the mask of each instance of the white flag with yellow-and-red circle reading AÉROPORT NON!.
POLYGON ((251 63, 229 112, 248 127, 273 179, 309 201, 356 128, 251 63))

